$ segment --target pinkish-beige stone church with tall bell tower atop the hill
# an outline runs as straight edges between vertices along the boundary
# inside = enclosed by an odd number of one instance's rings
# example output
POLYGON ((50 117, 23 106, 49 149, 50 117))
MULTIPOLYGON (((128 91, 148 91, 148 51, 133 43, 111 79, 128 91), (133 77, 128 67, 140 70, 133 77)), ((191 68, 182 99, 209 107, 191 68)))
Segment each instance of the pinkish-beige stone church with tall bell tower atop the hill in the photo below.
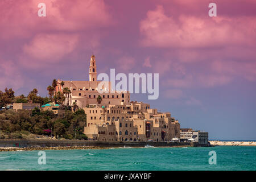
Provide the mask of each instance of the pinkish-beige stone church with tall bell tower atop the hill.
POLYGON ((98 84, 101 81, 97 81, 97 67, 95 56, 90 57, 90 66, 89 66, 89 81, 63 81, 64 86, 61 88, 61 81, 57 81, 56 92, 62 91, 63 88, 67 87, 71 90, 71 95, 67 100, 72 105, 73 102, 76 102, 80 108, 85 107, 86 105, 98 104, 97 97, 101 96, 102 105, 109 104, 129 104, 130 103, 130 93, 129 92, 116 92, 111 89, 110 82, 104 82, 101 88, 98 88, 98 84), (98 90, 102 92, 109 93, 99 93, 98 90), (114 93, 110 93, 114 92, 114 93))

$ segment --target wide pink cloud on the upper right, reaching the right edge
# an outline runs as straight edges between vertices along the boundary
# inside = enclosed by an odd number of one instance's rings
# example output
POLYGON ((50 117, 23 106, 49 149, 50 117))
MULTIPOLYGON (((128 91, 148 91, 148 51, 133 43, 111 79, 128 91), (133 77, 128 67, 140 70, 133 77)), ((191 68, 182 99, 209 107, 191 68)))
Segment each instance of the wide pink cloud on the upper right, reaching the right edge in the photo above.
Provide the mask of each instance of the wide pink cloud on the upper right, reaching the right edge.
POLYGON ((141 21, 141 44, 146 47, 216 47, 232 44, 253 45, 256 18, 201 18, 180 15, 178 20, 164 13, 163 6, 147 12, 141 21), (248 36, 250 35, 250 36, 248 36))

